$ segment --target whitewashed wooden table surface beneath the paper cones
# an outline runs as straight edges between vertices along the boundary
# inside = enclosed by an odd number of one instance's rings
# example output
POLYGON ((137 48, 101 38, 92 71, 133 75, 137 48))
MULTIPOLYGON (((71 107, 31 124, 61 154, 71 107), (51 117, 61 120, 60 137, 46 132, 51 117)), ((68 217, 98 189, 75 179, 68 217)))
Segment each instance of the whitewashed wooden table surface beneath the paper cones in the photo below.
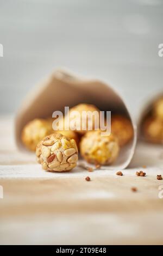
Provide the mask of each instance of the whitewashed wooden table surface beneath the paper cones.
POLYGON ((12 119, 0 123, 1 244, 163 244, 162 147, 139 143, 123 176, 79 167, 48 173, 17 151, 12 119), (135 175, 142 165, 146 177, 135 175))

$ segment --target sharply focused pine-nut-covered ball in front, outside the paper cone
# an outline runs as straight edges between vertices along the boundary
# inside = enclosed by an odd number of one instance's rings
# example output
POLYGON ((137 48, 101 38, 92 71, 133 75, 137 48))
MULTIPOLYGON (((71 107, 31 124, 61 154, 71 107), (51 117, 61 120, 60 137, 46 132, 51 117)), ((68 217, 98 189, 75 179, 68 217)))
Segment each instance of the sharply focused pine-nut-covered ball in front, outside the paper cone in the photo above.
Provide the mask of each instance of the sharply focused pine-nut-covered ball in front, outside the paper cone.
POLYGON ((44 170, 66 172, 73 169, 78 161, 78 148, 74 139, 60 133, 53 133, 42 139, 36 148, 37 162, 44 170))

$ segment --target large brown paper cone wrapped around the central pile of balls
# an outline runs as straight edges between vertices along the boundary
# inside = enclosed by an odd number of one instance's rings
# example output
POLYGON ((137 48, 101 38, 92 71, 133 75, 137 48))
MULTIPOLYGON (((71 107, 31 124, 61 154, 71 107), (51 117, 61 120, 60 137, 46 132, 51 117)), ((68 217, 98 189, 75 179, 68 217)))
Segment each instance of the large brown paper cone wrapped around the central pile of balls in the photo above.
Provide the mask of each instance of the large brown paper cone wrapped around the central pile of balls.
POLYGON ((121 96, 108 83, 87 79, 70 71, 55 70, 43 83, 38 84, 23 100, 15 119, 15 138, 19 149, 24 149, 21 133, 24 125, 35 118, 52 117, 54 111, 64 113, 65 106, 79 103, 95 105, 101 111, 125 115, 133 126, 134 136, 121 148, 117 160, 109 169, 124 169, 130 163, 136 145, 137 129, 121 96))

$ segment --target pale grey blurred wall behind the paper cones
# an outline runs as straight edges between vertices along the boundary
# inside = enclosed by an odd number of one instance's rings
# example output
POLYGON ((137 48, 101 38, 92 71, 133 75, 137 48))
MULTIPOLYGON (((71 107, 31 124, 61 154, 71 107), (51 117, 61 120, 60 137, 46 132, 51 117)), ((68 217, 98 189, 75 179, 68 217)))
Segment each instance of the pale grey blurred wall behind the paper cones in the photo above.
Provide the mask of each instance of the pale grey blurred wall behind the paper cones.
POLYGON ((101 77, 131 111, 163 90, 162 0, 0 0, 0 112, 58 66, 101 77))

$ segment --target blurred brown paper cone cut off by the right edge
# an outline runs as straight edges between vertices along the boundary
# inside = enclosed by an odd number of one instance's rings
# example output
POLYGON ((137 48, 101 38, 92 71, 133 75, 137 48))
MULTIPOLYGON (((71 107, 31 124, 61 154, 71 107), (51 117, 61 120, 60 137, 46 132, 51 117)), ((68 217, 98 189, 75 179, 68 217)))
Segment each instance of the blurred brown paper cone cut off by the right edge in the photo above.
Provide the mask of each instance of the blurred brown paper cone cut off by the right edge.
MULTIPOLYGON (((145 105, 142 107, 140 111, 140 117, 137 122, 138 127, 138 138, 140 141, 150 142, 150 143, 156 143, 156 144, 163 144, 163 140, 159 139, 157 133, 155 133, 155 127, 156 129, 160 129, 160 126, 163 124, 163 93, 160 92, 154 96, 151 97, 151 99, 148 99, 148 101, 145 103, 145 105), (158 102, 161 100, 161 109, 160 106, 158 108, 158 102), (149 138, 148 136, 145 136, 145 121, 146 127, 148 124, 153 122, 153 126, 151 126, 151 132, 154 131, 155 138, 149 138)), ((160 133, 163 135, 163 128, 161 129, 160 133)))

